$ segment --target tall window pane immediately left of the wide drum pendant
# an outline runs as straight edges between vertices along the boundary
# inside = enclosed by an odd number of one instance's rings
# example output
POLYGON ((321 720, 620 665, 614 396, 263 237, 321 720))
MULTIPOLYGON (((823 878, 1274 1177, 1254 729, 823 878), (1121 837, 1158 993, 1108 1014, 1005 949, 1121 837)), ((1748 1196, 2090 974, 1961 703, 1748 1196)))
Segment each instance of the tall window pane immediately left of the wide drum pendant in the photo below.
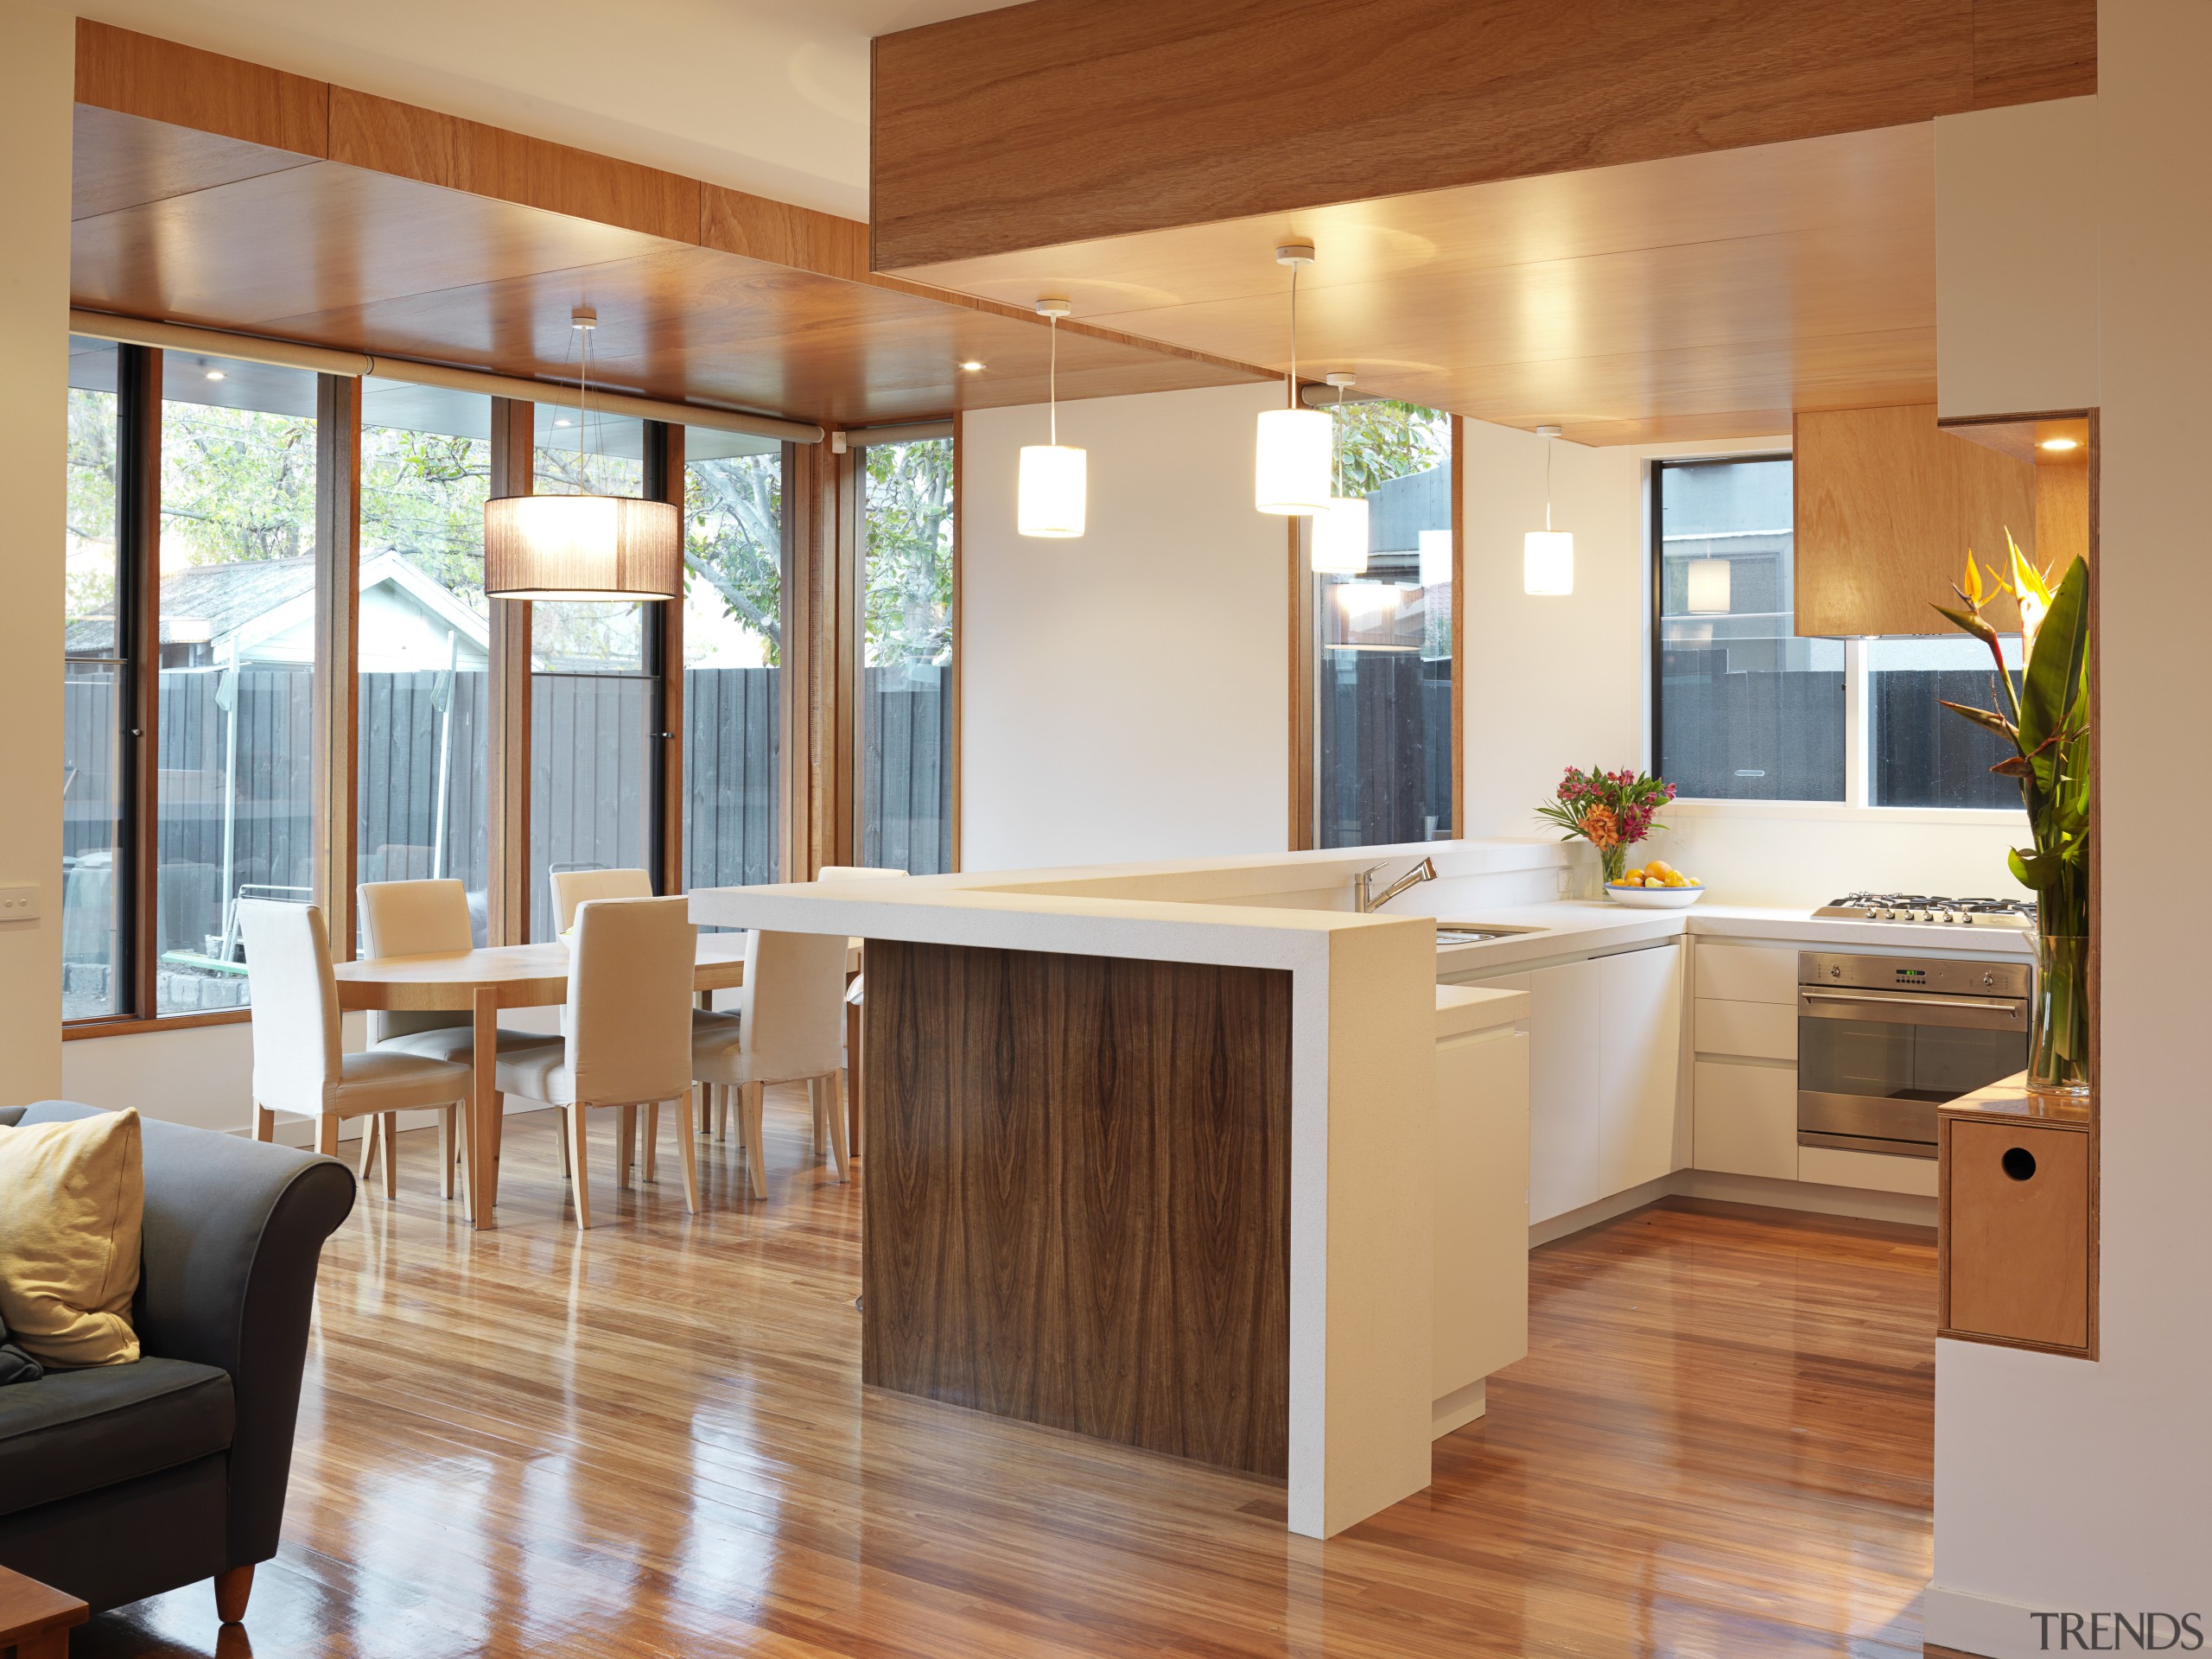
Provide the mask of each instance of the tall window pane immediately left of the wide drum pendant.
POLYGON ((478 945, 491 867, 491 398, 361 389, 358 880, 456 878, 478 945))

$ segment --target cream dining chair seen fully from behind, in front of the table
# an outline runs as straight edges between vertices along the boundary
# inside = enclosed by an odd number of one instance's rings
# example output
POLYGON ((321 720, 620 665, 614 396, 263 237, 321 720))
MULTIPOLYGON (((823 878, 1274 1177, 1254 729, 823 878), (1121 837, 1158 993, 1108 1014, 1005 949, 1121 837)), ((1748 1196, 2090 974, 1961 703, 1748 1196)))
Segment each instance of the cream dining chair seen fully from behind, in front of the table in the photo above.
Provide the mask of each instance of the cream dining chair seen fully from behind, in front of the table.
MULTIPOLYGON (((560 1106, 577 1228, 591 1225, 584 1126, 593 1108, 619 1108, 617 1183, 630 1177, 637 1108, 690 1093, 690 993, 699 929, 681 898, 588 898, 568 940, 562 1035, 500 1053, 500 1088, 560 1106)), ((650 1115, 657 1121, 659 1113, 650 1115)), ((684 1203, 699 1212, 699 1164, 675 1113, 684 1203)))

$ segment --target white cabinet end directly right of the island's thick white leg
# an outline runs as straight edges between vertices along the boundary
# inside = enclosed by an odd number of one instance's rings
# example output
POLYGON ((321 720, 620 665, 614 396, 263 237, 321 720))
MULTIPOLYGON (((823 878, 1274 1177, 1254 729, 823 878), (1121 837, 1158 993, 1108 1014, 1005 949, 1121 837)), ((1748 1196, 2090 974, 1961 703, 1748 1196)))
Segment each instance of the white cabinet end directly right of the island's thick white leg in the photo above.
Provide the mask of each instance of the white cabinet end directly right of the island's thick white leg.
POLYGON ((1436 1044, 1436 1420, 1482 1413, 1482 1378, 1528 1354, 1528 1035, 1436 1044))

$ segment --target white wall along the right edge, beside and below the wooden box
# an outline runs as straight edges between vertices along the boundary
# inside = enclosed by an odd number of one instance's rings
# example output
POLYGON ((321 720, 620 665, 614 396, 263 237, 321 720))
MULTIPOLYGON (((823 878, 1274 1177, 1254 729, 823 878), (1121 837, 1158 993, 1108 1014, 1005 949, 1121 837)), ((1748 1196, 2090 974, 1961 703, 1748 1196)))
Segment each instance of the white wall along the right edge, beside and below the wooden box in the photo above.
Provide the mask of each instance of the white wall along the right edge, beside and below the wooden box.
POLYGON ((2212 1626, 2212 1110, 2172 858, 2212 812, 2212 7, 2101 0, 2097 38, 2101 1358, 1936 1345, 1927 1635, 1997 1659, 2042 1650, 2035 1608, 2212 1626))

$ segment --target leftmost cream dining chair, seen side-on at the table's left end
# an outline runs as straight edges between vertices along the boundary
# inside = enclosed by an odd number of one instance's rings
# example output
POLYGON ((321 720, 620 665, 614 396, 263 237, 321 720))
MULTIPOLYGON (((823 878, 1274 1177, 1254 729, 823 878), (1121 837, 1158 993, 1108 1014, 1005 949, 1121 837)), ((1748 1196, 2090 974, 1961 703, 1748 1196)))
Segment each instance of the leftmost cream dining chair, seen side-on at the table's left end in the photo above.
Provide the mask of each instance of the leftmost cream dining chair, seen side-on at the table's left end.
MULTIPOLYGON (((276 1113, 316 1119, 316 1150, 336 1152, 347 1117, 429 1108, 451 1119, 462 1108, 476 1075, 467 1066, 431 1055, 343 1053, 338 982, 319 905, 241 898, 239 931, 252 993, 257 1141, 274 1139, 276 1113)), ((387 1172, 389 1164, 387 1146, 387 1172)), ((451 1177, 442 1188, 451 1197, 451 1177)), ((387 1179, 385 1192, 394 1190, 387 1179)))

